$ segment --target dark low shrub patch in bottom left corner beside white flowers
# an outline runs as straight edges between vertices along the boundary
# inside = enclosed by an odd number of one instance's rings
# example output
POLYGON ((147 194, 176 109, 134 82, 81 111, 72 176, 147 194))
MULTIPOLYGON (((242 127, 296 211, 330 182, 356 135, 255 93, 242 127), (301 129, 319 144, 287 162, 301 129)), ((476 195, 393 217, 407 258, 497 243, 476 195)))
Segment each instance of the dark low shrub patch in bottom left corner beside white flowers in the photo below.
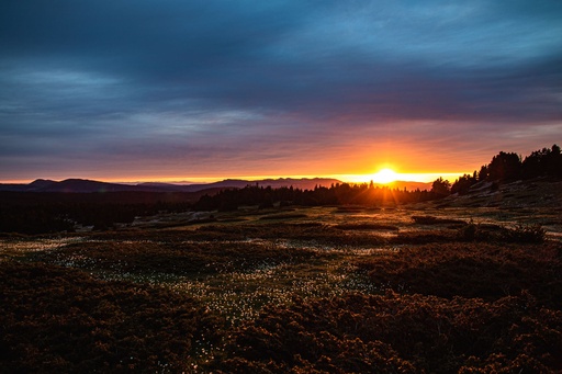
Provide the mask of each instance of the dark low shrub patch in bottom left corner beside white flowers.
POLYGON ((182 372, 222 320, 186 295, 78 270, 2 262, 5 373, 182 372))

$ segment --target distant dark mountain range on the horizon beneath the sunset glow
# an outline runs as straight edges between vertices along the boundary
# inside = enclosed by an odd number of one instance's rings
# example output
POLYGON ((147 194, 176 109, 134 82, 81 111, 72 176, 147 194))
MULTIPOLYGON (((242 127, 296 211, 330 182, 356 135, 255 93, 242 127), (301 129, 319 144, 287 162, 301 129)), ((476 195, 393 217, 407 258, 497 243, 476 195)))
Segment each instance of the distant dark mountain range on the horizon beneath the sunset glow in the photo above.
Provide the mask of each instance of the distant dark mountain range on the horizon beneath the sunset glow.
MULTIPOLYGON (((108 183, 100 181, 92 181, 87 179, 66 179, 64 181, 52 181, 45 179, 37 179, 29 184, 2 184, 0 183, 0 191, 14 191, 14 192, 71 192, 71 193, 92 193, 92 192, 199 192, 207 189, 243 189, 247 185, 271 186, 279 189, 283 186, 293 186, 302 190, 313 190, 315 186, 327 186, 331 184, 342 183, 337 179, 330 178, 280 178, 280 179, 263 179, 258 181, 248 181, 240 179, 227 179, 214 183, 200 183, 200 184, 172 184, 172 183, 158 183, 147 182, 138 184, 125 183, 108 183)), ((393 189, 408 189, 408 190, 426 190, 430 189, 430 183, 419 182, 394 182, 390 185, 393 189)))

